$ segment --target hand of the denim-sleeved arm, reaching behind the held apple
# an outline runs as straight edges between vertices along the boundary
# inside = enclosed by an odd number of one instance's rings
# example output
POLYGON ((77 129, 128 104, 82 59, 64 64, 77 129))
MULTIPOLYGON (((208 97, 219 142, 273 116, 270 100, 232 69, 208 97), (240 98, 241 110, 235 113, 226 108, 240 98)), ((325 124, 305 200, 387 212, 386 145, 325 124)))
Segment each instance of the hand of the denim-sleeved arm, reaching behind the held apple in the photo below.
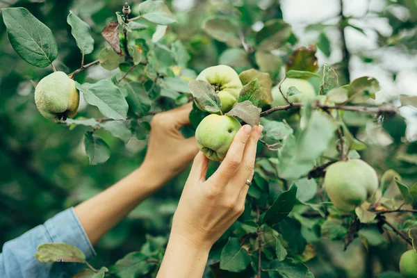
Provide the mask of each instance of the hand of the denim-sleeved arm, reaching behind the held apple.
POLYGON ((186 104, 158 113, 151 122, 151 133, 142 168, 156 174, 162 185, 188 167, 198 152, 195 137, 184 138, 179 129, 190 124, 188 115, 193 105, 186 104))

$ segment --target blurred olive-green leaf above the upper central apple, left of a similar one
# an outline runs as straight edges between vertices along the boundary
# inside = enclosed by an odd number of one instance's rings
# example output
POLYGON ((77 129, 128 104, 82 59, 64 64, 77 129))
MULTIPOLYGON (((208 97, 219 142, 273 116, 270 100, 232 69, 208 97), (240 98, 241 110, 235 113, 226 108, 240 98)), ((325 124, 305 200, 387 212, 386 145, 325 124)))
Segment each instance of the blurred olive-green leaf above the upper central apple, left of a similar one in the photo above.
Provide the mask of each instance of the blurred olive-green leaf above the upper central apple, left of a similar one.
POLYGON ((229 47, 238 47, 242 44, 238 35, 238 25, 227 17, 208 17, 204 19, 202 28, 212 38, 225 42, 229 47))

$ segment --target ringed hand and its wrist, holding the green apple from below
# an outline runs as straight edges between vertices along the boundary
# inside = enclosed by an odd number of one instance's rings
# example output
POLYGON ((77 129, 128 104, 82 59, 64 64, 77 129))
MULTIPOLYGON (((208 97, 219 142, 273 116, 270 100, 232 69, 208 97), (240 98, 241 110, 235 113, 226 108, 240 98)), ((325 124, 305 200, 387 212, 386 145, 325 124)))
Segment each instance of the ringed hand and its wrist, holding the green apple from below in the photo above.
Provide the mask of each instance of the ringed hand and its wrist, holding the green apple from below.
POLYGON ((262 126, 243 126, 218 170, 206 180, 208 159, 199 152, 174 214, 158 277, 202 277, 213 243, 243 213, 262 126))

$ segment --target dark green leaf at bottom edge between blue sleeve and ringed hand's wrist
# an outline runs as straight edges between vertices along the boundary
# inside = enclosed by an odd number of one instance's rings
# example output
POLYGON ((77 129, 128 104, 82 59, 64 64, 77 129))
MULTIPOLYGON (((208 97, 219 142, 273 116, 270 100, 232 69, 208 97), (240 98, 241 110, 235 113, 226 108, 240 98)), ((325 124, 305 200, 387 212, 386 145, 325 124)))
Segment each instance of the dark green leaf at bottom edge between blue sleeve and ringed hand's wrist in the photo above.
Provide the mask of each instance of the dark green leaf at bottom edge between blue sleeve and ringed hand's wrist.
POLYGON ((155 267, 156 262, 147 262, 149 256, 141 252, 131 252, 110 268, 117 277, 136 278, 147 275, 155 267))

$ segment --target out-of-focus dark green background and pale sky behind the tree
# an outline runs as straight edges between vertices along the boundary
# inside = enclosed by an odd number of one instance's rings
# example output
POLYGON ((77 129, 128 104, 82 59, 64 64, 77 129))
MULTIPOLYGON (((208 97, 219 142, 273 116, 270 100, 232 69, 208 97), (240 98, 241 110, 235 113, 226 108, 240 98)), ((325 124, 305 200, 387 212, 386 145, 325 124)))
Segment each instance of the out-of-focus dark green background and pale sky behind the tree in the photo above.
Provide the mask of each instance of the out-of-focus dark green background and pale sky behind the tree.
MULTIPOLYGON (((140 1, 131 1, 131 5, 133 2, 140 1)), ((383 88, 378 94, 377 103, 395 100, 400 93, 417 95, 417 1, 345 1, 342 17, 341 1, 313 2, 167 1, 179 22, 170 28, 186 45, 191 56, 189 67, 195 72, 218 63, 236 62, 222 55, 227 49, 224 43, 212 40, 200 27, 208 15, 236 12, 241 22, 252 30, 259 29, 260 21, 284 18, 293 25, 293 31, 299 39, 297 44, 318 44, 320 65, 333 65, 342 83, 358 76, 375 76, 383 88), (341 31, 345 33, 346 44, 341 42, 341 31), (344 50, 350 55, 346 57, 344 50)), ((72 72, 79 68, 81 54, 66 21, 70 10, 92 28, 96 50, 86 56, 88 63, 98 58, 104 46, 100 33, 106 23, 115 20, 115 12, 120 11, 123 4, 124 1, 113 0, 3 0, 0 1, 0 8, 23 6, 49 26, 59 48, 58 60, 54 64, 57 70, 72 72)), ((286 56, 285 53, 281 55, 286 56)), ((44 119, 38 113, 33 100, 33 82, 38 82, 51 69, 32 67, 19 58, 10 46, 2 21, 0 65, 0 245, 3 245, 59 211, 79 204, 125 177, 140 165, 147 143, 146 140, 132 138, 125 145, 110 133, 99 130, 99 136, 111 147, 111 158, 104 165, 89 165, 82 142, 83 133, 88 127, 76 126, 70 130, 67 126, 44 119)), ((247 67, 245 63, 234 66, 239 70, 247 67)), ((108 76, 111 73, 101 67, 92 67, 79 74, 77 80, 94 81, 108 76)), ((86 111, 85 104, 81 104, 79 116, 97 117, 99 113, 95 109, 90 107, 86 111)), ((391 122, 391 126, 387 124, 388 133, 380 133, 375 126, 364 128, 352 124, 351 128, 354 131, 360 128, 361 139, 372 141, 362 155, 371 164, 377 165, 379 172, 393 167, 406 181, 412 181, 416 177, 417 159, 408 156, 404 161, 394 162, 393 156, 399 151, 404 154, 416 153, 416 142, 409 143, 406 149, 398 148, 401 138, 408 138, 409 142, 416 139, 417 113, 413 108, 402 108, 401 113, 407 118, 408 127, 400 118, 397 122, 391 122)), ((93 265, 109 265, 128 252, 139 250, 146 234, 168 234, 167 227, 186 177, 185 172, 168 183, 106 234, 95 246, 98 256, 93 265)), ((336 248, 332 245, 336 243, 323 245, 323 250, 318 252, 332 254, 329 250, 336 248), (330 249, 326 250, 327 247, 330 249)), ((340 246, 337 248, 340 249, 340 246)), ((362 247, 359 249, 363 251, 362 247)), ((353 274, 346 277, 362 275, 362 272, 355 274, 354 253, 352 247, 350 253, 339 258, 342 261, 350 258, 352 261, 353 274)), ((345 271, 334 270, 343 268, 334 261, 325 264, 331 257, 323 255, 316 259, 322 265, 322 269, 314 271, 322 274, 318 277, 335 273, 338 277, 345 275, 345 271)))

